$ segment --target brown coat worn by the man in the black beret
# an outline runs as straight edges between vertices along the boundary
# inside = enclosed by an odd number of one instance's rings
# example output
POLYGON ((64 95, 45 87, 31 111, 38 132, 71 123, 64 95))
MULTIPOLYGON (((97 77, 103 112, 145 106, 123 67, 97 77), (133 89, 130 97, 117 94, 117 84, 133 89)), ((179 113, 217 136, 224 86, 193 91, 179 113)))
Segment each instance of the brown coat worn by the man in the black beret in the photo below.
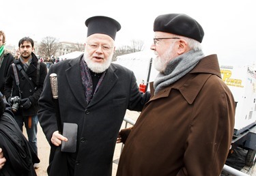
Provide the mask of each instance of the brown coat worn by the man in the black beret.
POLYGON ((124 145, 117 176, 220 175, 234 117, 235 102, 218 59, 205 57, 145 104, 124 145))

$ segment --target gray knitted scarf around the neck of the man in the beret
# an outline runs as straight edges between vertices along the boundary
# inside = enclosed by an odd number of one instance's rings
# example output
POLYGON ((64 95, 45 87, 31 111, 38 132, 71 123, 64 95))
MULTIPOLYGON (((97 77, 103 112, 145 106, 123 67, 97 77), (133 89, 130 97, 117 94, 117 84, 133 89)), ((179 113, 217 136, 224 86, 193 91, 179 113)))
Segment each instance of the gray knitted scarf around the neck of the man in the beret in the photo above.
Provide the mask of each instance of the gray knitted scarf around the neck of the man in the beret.
POLYGON ((159 72, 154 80, 155 95, 190 72, 203 57, 203 51, 190 50, 167 63, 165 71, 159 72))

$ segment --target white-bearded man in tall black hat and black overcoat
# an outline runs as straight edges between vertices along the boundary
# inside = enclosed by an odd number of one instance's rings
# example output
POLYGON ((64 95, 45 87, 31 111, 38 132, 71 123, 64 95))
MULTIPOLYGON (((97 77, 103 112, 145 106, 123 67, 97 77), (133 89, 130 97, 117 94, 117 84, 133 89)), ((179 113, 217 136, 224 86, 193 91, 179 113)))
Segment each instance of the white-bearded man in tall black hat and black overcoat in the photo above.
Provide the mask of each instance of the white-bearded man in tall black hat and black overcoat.
MULTIPOLYGON (((117 134, 126 109, 141 111, 150 98, 141 93, 132 71, 111 63, 121 26, 106 16, 86 20, 85 53, 51 65, 39 100, 40 125, 51 145, 48 175, 111 176, 117 134), (76 151, 61 151, 49 76, 57 74, 61 123, 78 125, 76 151)), ((63 129, 65 130, 65 129, 63 129)))

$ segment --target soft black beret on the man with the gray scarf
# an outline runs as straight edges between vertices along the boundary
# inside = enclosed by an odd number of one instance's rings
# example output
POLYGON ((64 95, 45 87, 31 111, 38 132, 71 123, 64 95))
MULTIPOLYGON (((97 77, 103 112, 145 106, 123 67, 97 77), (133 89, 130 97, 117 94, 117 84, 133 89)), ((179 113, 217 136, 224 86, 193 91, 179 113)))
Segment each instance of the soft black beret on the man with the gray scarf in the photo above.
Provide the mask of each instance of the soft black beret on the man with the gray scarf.
POLYGON ((203 40, 203 28, 196 20, 186 14, 163 14, 156 17, 154 31, 162 31, 193 38, 198 42, 203 40))

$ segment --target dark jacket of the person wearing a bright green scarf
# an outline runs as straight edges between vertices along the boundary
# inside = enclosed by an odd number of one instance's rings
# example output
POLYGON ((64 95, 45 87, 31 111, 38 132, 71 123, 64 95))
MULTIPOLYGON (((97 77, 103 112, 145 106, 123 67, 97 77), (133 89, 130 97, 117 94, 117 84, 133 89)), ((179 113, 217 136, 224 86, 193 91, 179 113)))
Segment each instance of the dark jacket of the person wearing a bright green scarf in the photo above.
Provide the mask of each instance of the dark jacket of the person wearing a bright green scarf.
POLYGON ((0 68, 0 91, 4 93, 5 78, 8 74, 10 65, 14 62, 14 56, 11 53, 3 53, 3 61, 0 68))

